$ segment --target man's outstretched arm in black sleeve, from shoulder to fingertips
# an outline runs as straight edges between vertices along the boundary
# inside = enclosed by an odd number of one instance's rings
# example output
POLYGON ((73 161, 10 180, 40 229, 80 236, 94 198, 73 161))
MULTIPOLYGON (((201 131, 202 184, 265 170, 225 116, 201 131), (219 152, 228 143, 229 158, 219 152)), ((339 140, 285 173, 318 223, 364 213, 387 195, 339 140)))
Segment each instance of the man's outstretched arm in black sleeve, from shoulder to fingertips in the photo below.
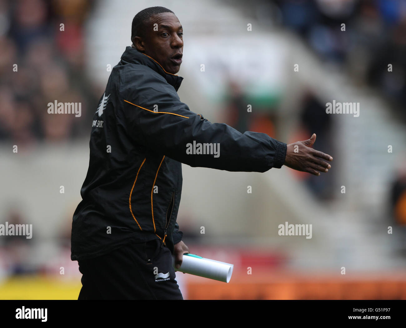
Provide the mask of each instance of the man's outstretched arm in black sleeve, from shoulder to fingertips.
POLYGON ((264 133, 242 134, 227 124, 211 123, 190 111, 164 78, 134 74, 145 83, 136 90, 125 86, 121 104, 128 133, 140 145, 193 167, 227 171, 266 172, 286 165, 315 174, 313 170, 328 167, 320 158, 330 160, 330 155, 309 147, 314 139, 288 146, 264 133))

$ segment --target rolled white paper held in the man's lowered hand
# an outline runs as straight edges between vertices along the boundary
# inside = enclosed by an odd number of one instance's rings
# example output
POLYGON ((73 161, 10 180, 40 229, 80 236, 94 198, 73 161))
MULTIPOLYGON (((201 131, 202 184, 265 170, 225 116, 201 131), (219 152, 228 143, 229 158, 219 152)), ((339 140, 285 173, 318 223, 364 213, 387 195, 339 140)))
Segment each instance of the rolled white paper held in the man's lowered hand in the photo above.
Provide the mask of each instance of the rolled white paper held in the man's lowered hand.
MULTIPOLYGON (((175 268, 175 257, 172 257, 172 265, 175 268)), ((228 283, 233 273, 234 265, 230 263, 215 261, 212 259, 205 259, 192 254, 184 254, 182 265, 179 272, 193 274, 203 278, 209 278, 223 283, 228 283)))

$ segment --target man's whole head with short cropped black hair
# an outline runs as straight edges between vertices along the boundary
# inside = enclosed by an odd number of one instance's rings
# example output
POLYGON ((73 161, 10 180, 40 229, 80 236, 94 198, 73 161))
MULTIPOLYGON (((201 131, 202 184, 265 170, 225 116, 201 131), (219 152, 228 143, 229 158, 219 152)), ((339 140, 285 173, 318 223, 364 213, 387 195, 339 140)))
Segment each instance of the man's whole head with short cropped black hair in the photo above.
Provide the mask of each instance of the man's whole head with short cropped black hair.
POLYGON ((132 47, 155 59, 168 73, 176 74, 182 63, 183 29, 173 11, 150 7, 132 20, 132 47))

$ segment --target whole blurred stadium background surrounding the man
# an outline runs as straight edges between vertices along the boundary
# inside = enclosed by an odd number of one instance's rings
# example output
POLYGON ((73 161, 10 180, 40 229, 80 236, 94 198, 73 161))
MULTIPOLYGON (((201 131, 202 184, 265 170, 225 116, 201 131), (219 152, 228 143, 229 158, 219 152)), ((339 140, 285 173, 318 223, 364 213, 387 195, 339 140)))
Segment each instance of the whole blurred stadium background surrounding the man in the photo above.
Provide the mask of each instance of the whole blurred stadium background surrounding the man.
POLYGON ((0 0, 0 223, 33 226, 32 239, 0 236, 0 298, 77 299, 70 229, 91 117, 149 6, 184 27, 192 111, 286 143, 316 133, 334 158, 320 177, 184 165, 184 242, 235 265, 229 284, 178 274, 184 298, 406 299, 403 0, 0 0), (333 99, 359 102, 359 117, 326 114, 333 99), (54 100, 81 102, 81 117, 48 114, 54 100), (285 222, 312 224, 312 238, 279 236, 285 222))

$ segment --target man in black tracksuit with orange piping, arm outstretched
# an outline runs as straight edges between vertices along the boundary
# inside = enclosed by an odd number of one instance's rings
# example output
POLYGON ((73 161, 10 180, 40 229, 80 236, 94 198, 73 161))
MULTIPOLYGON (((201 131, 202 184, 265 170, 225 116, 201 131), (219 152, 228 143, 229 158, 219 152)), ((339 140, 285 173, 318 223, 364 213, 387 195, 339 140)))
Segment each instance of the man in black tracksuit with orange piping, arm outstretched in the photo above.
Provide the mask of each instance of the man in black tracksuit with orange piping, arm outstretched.
POLYGON ((83 274, 78 299, 183 299, 172 267, 172 255, 179 268, 189 252, 176 222, 181 163, 246 172, 284 164, 315 175, 330 168, 321 158, 332 158, 309 147, 314 134, 286 145, 190 111, 177 95, 182 34, 172 11, 140 11, 133 44, 112 69, 93 117, 89 170, 72 223, 71 259, 83 274))

